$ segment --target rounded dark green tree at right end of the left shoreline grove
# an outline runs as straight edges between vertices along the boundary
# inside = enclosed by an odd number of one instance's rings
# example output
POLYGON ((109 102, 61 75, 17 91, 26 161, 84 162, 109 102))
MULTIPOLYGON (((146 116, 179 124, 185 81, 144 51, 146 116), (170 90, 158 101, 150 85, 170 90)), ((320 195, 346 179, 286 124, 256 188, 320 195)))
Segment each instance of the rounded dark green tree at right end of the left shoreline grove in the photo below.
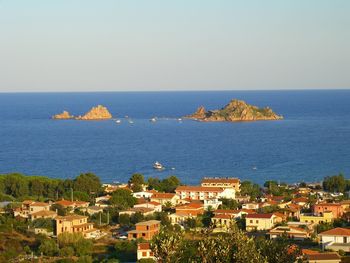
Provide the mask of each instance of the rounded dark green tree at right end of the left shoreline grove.
POLYGON ((101 190, 100 178, 93 173, 81 174, 74 179, 73 189, 88 194, 97 193, 101 190))

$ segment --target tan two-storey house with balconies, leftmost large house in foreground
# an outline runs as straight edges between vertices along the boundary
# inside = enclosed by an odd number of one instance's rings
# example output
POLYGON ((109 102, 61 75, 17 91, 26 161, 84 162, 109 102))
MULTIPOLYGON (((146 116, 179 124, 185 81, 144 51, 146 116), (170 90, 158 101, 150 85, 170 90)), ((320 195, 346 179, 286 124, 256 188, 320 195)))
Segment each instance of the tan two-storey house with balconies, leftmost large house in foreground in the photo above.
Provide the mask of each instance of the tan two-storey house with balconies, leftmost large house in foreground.
POLYGON ((61 233, 82 233, 85 237, 94 230, 92 223, 87 222, 87 216, 68 215, 57 216, 56 220, 56 235, 61 233))

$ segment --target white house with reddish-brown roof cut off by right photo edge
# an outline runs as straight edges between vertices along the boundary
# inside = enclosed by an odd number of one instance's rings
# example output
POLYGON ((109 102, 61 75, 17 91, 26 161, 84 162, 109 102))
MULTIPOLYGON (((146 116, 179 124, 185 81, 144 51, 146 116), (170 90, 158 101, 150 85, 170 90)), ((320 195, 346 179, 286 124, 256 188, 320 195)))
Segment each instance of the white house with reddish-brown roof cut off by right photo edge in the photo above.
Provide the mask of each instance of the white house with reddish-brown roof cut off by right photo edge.
POLYGON ((319 234, 323 249, 350 252, 350 229, 333 228, 319 234))

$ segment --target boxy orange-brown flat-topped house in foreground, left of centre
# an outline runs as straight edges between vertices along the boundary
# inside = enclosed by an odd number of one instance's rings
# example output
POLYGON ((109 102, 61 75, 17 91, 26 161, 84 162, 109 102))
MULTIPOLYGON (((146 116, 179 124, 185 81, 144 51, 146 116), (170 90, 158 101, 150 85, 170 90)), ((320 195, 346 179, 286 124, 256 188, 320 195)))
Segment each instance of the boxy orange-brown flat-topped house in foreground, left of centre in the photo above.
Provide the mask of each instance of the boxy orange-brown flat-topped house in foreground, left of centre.
POLYGON ((149 220, 135 224, 136 229, 128 232, 128 240, 143 238, 151 240, 159 232, 160 221, 149 220))

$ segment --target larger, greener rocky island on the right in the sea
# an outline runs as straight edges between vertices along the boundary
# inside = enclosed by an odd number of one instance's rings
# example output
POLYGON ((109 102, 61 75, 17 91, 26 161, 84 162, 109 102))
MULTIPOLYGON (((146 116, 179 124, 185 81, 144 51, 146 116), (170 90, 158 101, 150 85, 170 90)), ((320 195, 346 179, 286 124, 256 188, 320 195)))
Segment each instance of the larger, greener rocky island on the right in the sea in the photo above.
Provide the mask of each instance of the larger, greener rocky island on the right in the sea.
POLYGON ((269 107, 258 108, 249 105, 242 100, 231 100, 229 104, 220 110, 206 111, 203 106, 197 111, 184 118, 198 121, 260 121, 260 120, 281 120, 283 117, 277 115, 269 107))

